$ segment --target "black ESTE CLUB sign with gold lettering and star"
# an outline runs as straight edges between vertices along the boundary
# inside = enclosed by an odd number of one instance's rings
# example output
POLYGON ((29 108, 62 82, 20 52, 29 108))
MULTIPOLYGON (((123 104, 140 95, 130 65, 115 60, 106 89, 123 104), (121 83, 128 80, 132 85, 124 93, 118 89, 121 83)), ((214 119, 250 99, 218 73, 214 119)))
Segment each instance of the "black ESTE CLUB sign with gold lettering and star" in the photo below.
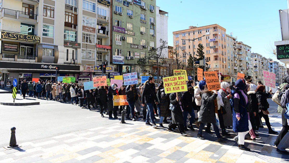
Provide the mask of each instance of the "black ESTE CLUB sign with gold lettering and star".
POLYGON ((10 33, 10 32, 1 32, 1 39, 25 41, 25 42, 31 42, 31 43, 40 43, 39 36, 10 33))

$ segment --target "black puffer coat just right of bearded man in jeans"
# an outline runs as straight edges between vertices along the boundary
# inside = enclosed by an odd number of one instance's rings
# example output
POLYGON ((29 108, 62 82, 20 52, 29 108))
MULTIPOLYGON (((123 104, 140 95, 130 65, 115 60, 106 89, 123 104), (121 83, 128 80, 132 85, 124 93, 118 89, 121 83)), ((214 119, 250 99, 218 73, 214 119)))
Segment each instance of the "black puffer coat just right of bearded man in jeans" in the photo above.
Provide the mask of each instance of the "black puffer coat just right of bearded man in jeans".
POLYGON ((160 88, 157 91, 157 97, 160 108, 160 116, 161 117, 169 117, 170 116, 170 94, 166 94, 164 92, 164 88, 160 88))

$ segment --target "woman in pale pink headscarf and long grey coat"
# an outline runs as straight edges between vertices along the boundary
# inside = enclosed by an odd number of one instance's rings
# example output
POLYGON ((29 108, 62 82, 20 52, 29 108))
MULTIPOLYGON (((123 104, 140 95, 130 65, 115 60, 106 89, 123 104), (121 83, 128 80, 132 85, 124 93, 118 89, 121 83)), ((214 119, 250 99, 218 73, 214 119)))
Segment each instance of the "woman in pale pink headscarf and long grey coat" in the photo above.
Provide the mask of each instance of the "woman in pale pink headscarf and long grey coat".
MULTIPOLYGON (((230 99, 232 98, 232 95, 227 92, 229 87, 230 87, 229 83, 222 82, 221 89, 219 90, 219 93, 221 94, 221 97, 223 100, 223 115, 222 116, 223 116, 225 127, 232 126, 233 124, 232 111, 231 111, 231 105, 230 105, 230 99)), ((228 135, 225 128, 222 129, 222 135, 228 135)))

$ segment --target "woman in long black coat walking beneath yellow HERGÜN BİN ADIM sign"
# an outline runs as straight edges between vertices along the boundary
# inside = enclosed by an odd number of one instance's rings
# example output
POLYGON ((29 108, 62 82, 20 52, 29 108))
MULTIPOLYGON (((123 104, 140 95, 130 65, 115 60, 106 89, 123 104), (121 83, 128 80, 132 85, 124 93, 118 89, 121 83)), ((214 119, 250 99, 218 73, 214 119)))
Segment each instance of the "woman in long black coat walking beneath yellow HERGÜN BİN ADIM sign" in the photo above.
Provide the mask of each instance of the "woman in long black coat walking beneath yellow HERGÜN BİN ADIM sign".
POLYGON ((181 133, 182 136, 186 136, 188 134, 185 133, 184 131, 184 118, 183 118, 183 109, 182 109, 182 104, 181 104, 181 93, 172 93, 170 94, 170 101, 171 105, 175 107, 175 111, 172 112, 172 120, 171 123, 168 125, 167 130, 168 131, 174 131, 173 128, 175 129, 177 126, 179 128, 179 132, 181 133))

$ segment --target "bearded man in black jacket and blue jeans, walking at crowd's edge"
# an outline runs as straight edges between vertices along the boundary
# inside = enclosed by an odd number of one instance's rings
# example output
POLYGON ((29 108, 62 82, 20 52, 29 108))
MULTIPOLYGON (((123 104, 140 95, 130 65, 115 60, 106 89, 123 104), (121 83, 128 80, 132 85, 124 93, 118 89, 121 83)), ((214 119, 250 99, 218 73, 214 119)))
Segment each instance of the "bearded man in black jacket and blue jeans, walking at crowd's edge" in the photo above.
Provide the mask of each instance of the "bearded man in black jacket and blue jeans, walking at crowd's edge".
POLYGON ((153 128, 156 128, 157 125, 155 124, 155 121, 153 119, 154 117, 154 111, 153 111, 153 105, 156 102, 156 105, 158 105, 158 98, 155 93, 155 79, 150 76, 149 80, 144 83, 144 90, 142 91, 142 106, 144 104, 147 104, 148 112, 147 112, 147 118, 146 118, 146 124, 151 125, 149 123, 149 118, 151 118, 151 122, 153 123, 153 128))

